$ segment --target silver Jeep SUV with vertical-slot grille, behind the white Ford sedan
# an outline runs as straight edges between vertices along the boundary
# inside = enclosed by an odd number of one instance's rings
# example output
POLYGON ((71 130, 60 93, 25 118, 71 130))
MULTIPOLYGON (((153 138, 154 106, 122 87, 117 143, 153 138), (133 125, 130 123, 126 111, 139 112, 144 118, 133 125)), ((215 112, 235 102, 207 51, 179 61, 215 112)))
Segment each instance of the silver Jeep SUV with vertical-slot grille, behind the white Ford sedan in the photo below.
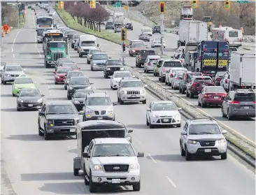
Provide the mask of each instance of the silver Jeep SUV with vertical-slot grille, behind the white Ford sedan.
POLYGON ((140 102, 147 103, 146 92, 143 82, 138 78, 123 78, 118 85, 118 102, 140 102))

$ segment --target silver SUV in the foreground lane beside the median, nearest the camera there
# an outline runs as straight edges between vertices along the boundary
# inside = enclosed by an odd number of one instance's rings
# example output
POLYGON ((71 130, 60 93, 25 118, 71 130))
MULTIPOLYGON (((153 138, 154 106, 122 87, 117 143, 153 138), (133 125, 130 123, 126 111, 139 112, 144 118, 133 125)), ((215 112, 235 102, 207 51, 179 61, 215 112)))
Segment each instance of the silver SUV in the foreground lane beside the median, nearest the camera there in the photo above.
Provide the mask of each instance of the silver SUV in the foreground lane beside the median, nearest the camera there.
POLYGON ((227 140, 218 123, 211 119, 187 120, 180 134, 180 153, 190 161, 193 156, 220 156, 227 159, 227 140))

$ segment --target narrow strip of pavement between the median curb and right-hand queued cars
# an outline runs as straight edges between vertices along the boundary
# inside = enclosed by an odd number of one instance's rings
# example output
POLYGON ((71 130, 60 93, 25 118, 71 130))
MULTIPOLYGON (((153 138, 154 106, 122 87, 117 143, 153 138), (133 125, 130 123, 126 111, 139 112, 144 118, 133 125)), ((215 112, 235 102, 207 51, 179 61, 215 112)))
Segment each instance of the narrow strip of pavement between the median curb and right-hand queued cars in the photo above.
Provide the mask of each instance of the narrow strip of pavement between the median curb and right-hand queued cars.
MULTIPOLYGON (((140 72, 143 73, 143 71, 140 71, 140 72)), ((160 82, 158 80, 158 77, 155 77, 151 73, 144 74, 144 75, 147 75, 148 78, 159 83, 166 89, 171 90, 171 92, 173 92, 174 94, 181 96, 183 99, 190 102, 192 105, 196 106, 197 108, 199 108, 206 114, 211 115, 219 122, 222 122, 223 124, 227 125, 227 127, 232 128, 235 131, 238 131, 243 136, 246 136, 247 138, 249 138, 250 140, 253 140, 255 142, 255 118, 236 118, 232 121, 229 121, 229 120, 227 120, 227 118, 222 117, 220 106, 209 106, 208 108, 201 108, 200 106, 198 106, 197 96, 194 99, 190 99, 185 94, 180 94, 178 90, 173 90, 173 89, 171 89, 171 87, 165 85, 163 82, 160 82)))

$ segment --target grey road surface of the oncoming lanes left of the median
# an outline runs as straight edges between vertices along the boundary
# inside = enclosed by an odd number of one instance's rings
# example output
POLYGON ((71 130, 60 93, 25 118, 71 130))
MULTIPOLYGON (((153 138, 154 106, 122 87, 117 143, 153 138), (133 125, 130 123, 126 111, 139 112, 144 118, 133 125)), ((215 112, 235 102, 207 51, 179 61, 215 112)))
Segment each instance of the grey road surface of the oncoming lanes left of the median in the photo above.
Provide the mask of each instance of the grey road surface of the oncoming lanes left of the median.
MULTIPOLYGON (((2 62, 18 63, 25 68, 45 99, 66 99, 63 85, 54 84, 53 68, 43 67, 42 45, 35 43, 34 17, 28 10, 27 29, 13 31, 4 38, 6 47, 2 62), (39 53, 40 52, 40 53, 39 53)), ((98 38, 100 48, 112 58, 118 57, 121 46, 98 38)), ((71 58, 87 75, 99 92, 108 92, 117 101, 116 91, 101 71, 90 71, 85 58, 71 51, 71 58)), ((127 57, 128 64, 134 58, 127 57)), ((113 190, 139 195, 254 195, 255 175, 228 154, 225 161, 216 158, 185 161, 180 156, 181 128, 149 129, 145 110, 156 98, 147 95, 147 105, 115 106, 115 119, 134 129, 133 144, 137 152, 145 152, 141 165, 141 192, 131 187, 101 189, 101 194, 117 194, 113 190)), ((1 85, 1 157, 5 171, 17 195, 90 194, 83 177, 73 176, 76 140, 43 140, 38 136, 37 111, 17 112, 16 97, 11 85, 1 85)), ((182 122, 182 127, 184 120, 182 122)), ((4 194, 7 195, 7 194, 4 194)))

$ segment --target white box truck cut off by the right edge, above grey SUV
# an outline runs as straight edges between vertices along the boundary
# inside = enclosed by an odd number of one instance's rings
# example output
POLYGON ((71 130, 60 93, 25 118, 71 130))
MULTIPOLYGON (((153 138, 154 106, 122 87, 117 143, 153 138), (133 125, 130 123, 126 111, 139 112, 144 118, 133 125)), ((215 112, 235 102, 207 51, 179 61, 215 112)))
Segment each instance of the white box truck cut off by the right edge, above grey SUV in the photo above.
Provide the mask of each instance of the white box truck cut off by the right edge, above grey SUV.
POLYGON ((255 88, 255 53, 231 52, 229 90, 255 88))

